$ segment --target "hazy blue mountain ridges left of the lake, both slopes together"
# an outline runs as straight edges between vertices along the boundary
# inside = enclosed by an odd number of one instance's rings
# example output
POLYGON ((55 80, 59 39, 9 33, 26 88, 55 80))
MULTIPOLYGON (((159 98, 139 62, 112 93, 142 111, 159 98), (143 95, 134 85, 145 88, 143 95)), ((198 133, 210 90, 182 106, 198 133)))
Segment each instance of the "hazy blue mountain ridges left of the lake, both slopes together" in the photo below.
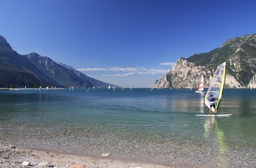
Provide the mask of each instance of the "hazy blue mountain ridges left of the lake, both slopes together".
POLYGON ((101 87, 109 83, 84 75, 52 59, 29 53, 21 56, 0 36, 0 87, 6 85, 38 87, 39 85, 68 87, 101 87))

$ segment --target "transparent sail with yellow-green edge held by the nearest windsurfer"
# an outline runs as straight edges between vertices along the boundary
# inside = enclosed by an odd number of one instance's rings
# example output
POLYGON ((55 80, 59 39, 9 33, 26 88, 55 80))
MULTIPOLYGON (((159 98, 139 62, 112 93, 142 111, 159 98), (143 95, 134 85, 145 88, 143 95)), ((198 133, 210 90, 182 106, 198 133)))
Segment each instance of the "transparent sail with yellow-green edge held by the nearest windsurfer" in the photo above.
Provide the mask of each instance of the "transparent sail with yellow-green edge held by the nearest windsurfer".
MULTIPOLYGON (((213 94, 213 97, 216 100, 215 102, 215 108, 216 110, 219 109, 220 101, 222 99, 222 93, 225 85, 225 77, 226 77, 226 62, 220 64, 217 67, 216 72, 214 73, 214 77, 210 83, 210 86, 208 88, 208 91, 206 92, 205 96, 205 104, 208 108, 210 108, 210 102, 208 100, 208 97, 213 94)), ((214 108, 211 107, 211 110, 214 112, 214 108)))

